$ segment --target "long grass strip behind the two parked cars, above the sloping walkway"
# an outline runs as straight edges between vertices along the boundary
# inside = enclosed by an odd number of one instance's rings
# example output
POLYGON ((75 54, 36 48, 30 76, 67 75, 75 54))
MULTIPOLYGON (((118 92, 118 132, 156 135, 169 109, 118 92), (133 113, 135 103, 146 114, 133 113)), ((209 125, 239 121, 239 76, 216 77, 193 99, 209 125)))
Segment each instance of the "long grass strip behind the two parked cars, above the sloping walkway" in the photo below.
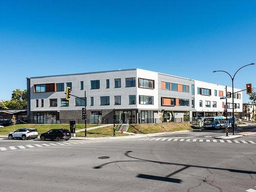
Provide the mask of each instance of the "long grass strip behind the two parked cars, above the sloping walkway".
MULTIPOLYGON (((93 127, 98 126, 98 124, 87 124, 87 127, 93 127)), ((64 128, 67 130, 70 130, 69 124, 16 124, 16 125, 10 125, 0 128, 0 135, 8 135, 11 131, 15 131, 19 128, 35 128, 37 129, 38 134, 45 133, 51 129, 59 129, 64 128)), ((84 124, 76 124, 76 130, 84 129, 84 124)))

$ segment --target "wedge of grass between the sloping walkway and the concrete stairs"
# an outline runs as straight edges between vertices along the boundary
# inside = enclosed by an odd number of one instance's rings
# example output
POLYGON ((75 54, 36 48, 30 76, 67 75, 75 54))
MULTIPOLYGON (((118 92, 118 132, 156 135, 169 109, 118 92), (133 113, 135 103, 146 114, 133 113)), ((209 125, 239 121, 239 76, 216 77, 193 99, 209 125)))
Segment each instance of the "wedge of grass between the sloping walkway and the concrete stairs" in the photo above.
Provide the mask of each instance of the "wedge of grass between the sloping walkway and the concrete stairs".
MULTIPOLYGON (((115 128, 117 125, 115 126, 115 128)), ((116 133, 115 136, 127 136, 128 134, 116 133)), ((77 137, 84 137, 84 132, 79 132, 76 134, 77 137)), ((113 126, 106 126, 95 130, 90 130, 87 132, 87 137, 111 137, 113 136, 113 126)))

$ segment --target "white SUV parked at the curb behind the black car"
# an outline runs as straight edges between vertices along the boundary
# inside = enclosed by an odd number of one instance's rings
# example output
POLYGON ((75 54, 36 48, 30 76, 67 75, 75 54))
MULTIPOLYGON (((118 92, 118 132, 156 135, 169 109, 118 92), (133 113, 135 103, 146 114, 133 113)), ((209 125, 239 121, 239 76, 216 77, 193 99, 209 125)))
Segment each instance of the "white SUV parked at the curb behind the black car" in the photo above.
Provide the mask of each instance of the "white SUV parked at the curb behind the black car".
POLYGON ((9 139, 22 138, 22 140, 36 139, 37 136, 38 136, 38 133, 36 129, 28 129, 26 127, 22 129, 18 129, 14 132, 10 132, 8 135, 9 139))

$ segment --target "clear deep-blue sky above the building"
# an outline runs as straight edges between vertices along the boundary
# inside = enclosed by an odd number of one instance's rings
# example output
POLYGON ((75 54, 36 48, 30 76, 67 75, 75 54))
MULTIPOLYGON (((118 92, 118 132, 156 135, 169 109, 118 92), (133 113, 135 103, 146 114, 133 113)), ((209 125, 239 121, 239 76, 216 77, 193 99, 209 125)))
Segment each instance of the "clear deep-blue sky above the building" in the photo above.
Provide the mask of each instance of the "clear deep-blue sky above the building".
MULTIPOLYGON (((141 68, 231 86, 256 62, 256 1, 5 1, 0 100, 26 77, 141 68)), ((235 87, 256 87, 256 65, 235 87)), ((244 101, 248 96, 244 93, 244 101)))

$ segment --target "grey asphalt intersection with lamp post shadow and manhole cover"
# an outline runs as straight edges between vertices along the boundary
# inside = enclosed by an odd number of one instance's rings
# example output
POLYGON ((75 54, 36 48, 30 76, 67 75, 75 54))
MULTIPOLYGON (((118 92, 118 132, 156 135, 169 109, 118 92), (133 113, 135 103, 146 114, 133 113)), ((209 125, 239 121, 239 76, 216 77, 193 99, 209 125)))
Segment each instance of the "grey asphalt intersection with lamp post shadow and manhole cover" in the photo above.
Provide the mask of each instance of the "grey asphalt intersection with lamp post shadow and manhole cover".
POLYGON ((0 151, 0 191, 256 191, 256 134, 223 142, 214 139, 218 135, 223 133, 68 142, 0 139, 6 148, 0 151))

